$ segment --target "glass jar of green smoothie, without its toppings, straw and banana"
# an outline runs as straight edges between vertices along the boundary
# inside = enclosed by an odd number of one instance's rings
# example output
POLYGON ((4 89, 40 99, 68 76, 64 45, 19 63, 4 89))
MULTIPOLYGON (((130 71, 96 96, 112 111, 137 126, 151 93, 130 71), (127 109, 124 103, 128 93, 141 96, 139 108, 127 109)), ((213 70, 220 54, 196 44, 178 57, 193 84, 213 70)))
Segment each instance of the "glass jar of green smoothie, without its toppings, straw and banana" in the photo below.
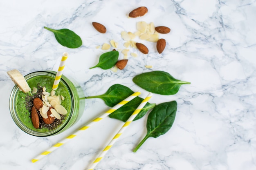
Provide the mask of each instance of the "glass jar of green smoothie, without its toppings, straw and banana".
MULTIPOLYGON (((29 73, 24 77, 31 89, 33 87, 38 88, 41 86, 40 88, 42 88, 45 86, 46 91, 50 93, 52 91, 55 76, 55 71, 37 71, 29 73)), ((85 108, 85 96, 81 86, 62 75, 56 90, 56 95, 62 95, 65 98, 61 102, 61 105, 66 108, 67 114, 61 115, 62 118, 61 120, 58 120, 58 124, 53 123, 53 125, 50 124, 50 126, 47 127, 40 126, 36 129, 31 121, 31 110, 28 109, 29 97, 31 98, 33 95, 34 94, 30 92, 23 93, 20 91, 18 86, 15 85, 11 91, 9 99, 9 108, 13 121, 21 130, 30 135, 46 137, 64 132, 67 128, 70 128, 70 126, 79 120, 85 108)), ((41 122, 42 118, 40 118, 40 124, 41 122)))

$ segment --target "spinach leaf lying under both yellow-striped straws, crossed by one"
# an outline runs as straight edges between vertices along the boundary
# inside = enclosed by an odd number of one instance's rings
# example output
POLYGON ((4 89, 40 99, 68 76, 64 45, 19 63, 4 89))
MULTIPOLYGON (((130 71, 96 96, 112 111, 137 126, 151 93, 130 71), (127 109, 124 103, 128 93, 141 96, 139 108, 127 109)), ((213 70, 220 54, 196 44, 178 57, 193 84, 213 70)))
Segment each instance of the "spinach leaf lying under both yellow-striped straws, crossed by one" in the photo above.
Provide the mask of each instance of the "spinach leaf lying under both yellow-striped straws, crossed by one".
MULTIPOLYGON (((115 112, 111 113, 109 117, 126 122, 129 119, 129 117, 132 115, 132 113, 136 110, 136 108, 139 106, 139 104, 141 104, 142 101, 143 101, 142 98, 135 97, 130 102, 128 102, 121 108, 117 109, 115 112)), ((141 109, 141 111, 133 121, 143 117, 147 113, 147 111, 153 107, 155 107, 155 104, 146 103, 146 105, 141 109)))

